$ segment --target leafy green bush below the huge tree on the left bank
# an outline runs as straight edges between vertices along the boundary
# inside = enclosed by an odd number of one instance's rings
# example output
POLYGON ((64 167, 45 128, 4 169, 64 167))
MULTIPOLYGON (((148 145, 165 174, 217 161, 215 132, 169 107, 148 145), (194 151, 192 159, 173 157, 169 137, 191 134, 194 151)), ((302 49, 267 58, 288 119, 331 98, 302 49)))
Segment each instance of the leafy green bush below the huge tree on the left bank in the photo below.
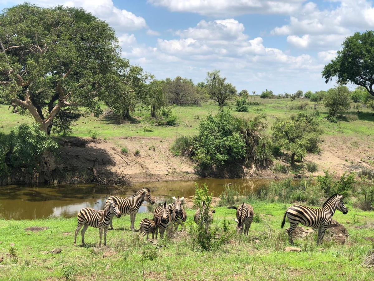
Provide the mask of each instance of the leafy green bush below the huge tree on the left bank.
POLYGON ((21 124, 10 133, 10 164, 13 168, 34 174, 43 153, 55 151, 58 145, 40 130, 39 124, 21 124))

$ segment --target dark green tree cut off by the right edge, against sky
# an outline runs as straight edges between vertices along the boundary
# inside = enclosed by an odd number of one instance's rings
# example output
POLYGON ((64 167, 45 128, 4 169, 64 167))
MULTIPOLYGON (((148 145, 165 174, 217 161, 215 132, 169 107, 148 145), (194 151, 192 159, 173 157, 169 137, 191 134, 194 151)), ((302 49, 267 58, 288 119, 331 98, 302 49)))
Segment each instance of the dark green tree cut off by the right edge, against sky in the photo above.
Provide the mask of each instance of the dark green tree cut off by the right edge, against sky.
POLYGON ((337 77, 339 84, 348 82, 365 87, 374 96, 374 31, 356 32, 343 42, 343 49, 322 71, 326 83, 337 77))

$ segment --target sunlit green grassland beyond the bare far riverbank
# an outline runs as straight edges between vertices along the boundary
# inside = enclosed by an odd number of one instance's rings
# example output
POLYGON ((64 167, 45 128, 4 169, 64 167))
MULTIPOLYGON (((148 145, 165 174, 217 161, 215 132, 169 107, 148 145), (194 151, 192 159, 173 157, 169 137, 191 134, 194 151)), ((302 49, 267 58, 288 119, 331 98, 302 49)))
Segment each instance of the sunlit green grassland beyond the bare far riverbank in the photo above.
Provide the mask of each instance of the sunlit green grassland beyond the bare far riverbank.
MULTIPOLYGON (((236 116, 251 118, 258 114, 264 114, 267 117, 268 127, 270 131, 271 125, 274 123, 276 117, 286 117, 298 112, 311 114, 313 112, 314 102, 309 100, 298 99, 292 101, 291 99, 260 99, 258 96, 251 96, 250 101, 259 102, 259 106, 249 106, 249 112, 236 112, 233 102, 230 102, 225 108, 230 109, 236 116), (308 105, 304 110, 295 110, 302 103, 307 102, 308 105)), ((103 106, 105 111, 105 106, 103 106)), ((354 136, 359 141, 365 140, 368 136, 374 135, 374 116, 372 112, 363 108, 358 114, 357 110, 352 109, 348 112, 352 121, 340 121, 338 123, 330 123, 325 121, 327 116, 323 105, 318 106, 320 112, 317 118, 321 120, 324 135, 333 136, 354 136)), ((152 126, 149 120, 149 112, 134 112, 134 121, 126 121, 123 124, 113 120, 112 118, 102 115, 99 118, 88 116, 80 118, 76 126, 73 128, 73 135, 80 137, 88 137, 92 132, 97 133, 99 138, 116 138, 121 136, 155 136, 161 138, 175 138, 179 135, 193 135, 196 133, 199 121, 201 118, 209 113, 215 114, 218 111, 218 106, 215 102, 209 101, 202 106, 177 106, 173 112, 179 119, 178 126, 152 126), (145 126, 152 126, 153 132, 144 132, 145 126)), ((9 133, 10 130, 19 123, 31 123, 33 119, 28 115, 12 114, 8 110, 7 105, 0 105, 1 124, 0 131, 9 133)), ((368 142, 368 140, 366 141, 368 142)), ((371 140, 370 140, 371 142, 371 140)))

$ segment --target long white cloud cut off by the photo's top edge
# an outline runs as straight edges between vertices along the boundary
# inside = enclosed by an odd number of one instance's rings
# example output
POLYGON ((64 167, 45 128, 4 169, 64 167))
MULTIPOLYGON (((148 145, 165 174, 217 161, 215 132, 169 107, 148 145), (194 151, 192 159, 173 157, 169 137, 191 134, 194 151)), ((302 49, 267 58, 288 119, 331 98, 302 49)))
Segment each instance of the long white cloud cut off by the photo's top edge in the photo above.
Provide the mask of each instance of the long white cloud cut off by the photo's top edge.
POLYGON ((244 14, 285 14, 300 10, 306 0, 148 0, 172 12, 191 12, 208 16, 244 14))

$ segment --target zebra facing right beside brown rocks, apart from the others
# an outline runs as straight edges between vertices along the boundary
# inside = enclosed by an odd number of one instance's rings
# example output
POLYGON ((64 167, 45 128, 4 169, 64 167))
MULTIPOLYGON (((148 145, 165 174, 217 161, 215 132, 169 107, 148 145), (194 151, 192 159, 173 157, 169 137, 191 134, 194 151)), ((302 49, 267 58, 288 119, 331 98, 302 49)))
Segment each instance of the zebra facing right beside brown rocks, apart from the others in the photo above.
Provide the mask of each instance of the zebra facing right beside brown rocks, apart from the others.
POLYGON ((332 216, 335 210, 339 210, 344 215, 347 214, 347 207, 344 206, 341 198, 343 195, 334 194, 329 199, 326 200, 322 208, 309 208, 302 205, 292 205, 289 207, 283 217, 281 228, 283 228, 286 221, 286 216, 288 218, 290 227, 288 232, 288 242, 294 244, 292 239, 292 233, 299 223, 304 226, 317 228, 318 227, 318 238, 317 245, 322 243, 327 227, 331 223, 332 216))

